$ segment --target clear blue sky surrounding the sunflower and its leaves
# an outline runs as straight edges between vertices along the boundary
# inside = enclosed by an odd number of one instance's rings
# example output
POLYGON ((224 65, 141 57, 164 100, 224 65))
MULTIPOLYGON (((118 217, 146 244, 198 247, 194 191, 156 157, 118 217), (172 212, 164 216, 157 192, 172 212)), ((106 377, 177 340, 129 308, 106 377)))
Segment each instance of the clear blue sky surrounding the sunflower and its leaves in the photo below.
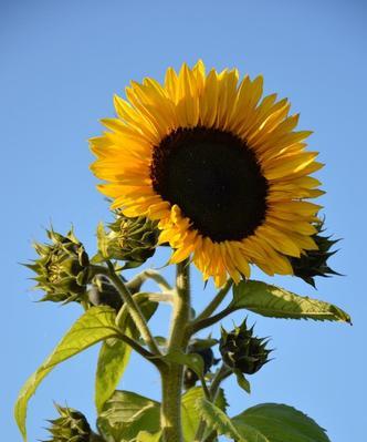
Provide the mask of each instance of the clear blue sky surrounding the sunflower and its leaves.
MULTIPOLYGON (((88 171, 86 140, 99 133, 97 120, 113 114, 112 96, 129 80, 161 80, 168 65, 198 58, 262 73, 266 92, 290 97, 301 127, 315 132, 310 144, 326 163, 317 176, 327 191, 328 232, 344 238, 332 264, 346 276, 318 280, 318 291, 291 277, 275 282, 335 302, 354 320, 348 327, 251 315, 258 333, 273 337, 275 360, 253 377, 251 397, 228 381, 232 411, 285 402, 317 420, 333 442, 365 440, 366 19, 363 0, 1 1, 1 440, 20 441, 12 420, 18 390, 81 312, 35 304, 31 275, 18 263, 34 257, 31 243, 44 239, 51 220, 61 232, 74 223, 94 251, 95 225, 108 219, 108 208, 88 171)), ((213 292, 201 288, 196 275, 197 306, 213 292)), ((164 310, 155 321, 158 332, 166 318, 164 310)), ((93 420, 96 354, 88 350, 44 381, 30 403, 30 441, 45 439, 53 400, 93 420)), ((123 387, 159 394, 157 373, 138 357, 123 387)))

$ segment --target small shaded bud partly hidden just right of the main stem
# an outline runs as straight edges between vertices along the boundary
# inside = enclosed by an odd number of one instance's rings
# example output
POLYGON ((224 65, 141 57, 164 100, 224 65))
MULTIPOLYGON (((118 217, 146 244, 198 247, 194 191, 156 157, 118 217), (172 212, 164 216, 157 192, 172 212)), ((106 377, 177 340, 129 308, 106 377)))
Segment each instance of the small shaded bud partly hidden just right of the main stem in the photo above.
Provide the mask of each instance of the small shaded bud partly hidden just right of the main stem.
MULTIPOLYGON (((203 360, 203 374, 207 374, 211 367, 220 361, 220 359, 214 358, 214 353, 211 349, 216 343, 218 343, 216 339, 193 339, 188 346, 188 353, 198 353, 201 356, 203 360)), ((184 386, 186 390, 195 387, 198 380, 198 374, 189 367, 185 367, 184 386)))

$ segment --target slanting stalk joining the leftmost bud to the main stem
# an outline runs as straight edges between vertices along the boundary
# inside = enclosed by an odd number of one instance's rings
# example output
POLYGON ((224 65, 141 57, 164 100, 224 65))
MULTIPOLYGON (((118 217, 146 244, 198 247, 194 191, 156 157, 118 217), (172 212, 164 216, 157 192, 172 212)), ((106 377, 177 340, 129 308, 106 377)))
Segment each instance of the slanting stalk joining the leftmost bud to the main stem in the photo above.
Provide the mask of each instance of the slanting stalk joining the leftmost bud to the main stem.
POLYGON ((139 308, 139 306, 135 302, 130 291, 123 282, 122 278, 116 274, 114 266, 107 261, 108 268, 98 266, 98 271, 105 275, 116 287, 120 297, 123 298, 124 302, 128 308, 128 312, 135 322, 137 329, 139 330, 141 338, 148 346, 149 350, 154 354, 160 354, 159 348, 150 332, 150 329, 147 325, 147 321, 139 308))

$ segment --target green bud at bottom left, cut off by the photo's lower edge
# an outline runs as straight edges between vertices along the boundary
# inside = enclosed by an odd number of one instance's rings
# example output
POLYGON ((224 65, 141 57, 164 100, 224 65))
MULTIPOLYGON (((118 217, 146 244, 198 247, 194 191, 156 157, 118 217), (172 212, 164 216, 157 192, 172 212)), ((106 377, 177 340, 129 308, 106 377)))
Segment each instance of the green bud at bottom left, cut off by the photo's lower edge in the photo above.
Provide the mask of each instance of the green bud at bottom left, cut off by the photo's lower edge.
POLYGON ((92 430, 84 414, 67 407, 55 404, 60 418, 50 420, 52 434, 49 442, 90 442, 92 430))

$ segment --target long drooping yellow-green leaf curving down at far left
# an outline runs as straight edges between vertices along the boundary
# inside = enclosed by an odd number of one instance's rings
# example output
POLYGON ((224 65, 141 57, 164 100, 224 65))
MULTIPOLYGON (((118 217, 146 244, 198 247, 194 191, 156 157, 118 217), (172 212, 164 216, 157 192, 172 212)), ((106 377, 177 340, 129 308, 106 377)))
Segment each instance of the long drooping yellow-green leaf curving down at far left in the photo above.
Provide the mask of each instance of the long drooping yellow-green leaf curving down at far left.
POLYGON ((29 378, 21 389, 14 408, 18 426, 27 441, 27 404, 43 378, 60 362, 80 353, 104 339, 118 336, 115 326, 115 310, 111 307, 92 307, 69 330, 59 346, 29 378))

